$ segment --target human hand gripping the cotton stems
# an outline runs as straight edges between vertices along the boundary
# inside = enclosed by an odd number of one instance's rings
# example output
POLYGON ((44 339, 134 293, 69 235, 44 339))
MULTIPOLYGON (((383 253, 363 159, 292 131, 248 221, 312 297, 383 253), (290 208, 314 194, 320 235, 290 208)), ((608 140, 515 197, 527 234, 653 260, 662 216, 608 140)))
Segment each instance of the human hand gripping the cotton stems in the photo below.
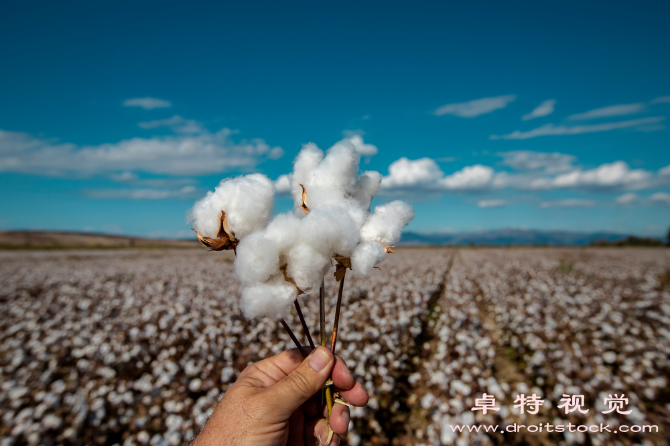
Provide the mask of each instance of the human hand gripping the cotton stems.
MULTIPOLYGON (((309 347, 305 347, 309 351, 309 347)), ((326 441, 328 424, 319 411, 319 390, 332 372, 334 390, 354 406, 364 406, 368 394, 344 360, 317 347, 305 360, 297 349, 248 366, 226 392, 192 446, 307 446, 326 441)), ((330 415, 338 435, 349 429, 349 408, 335 404, 330 415)))

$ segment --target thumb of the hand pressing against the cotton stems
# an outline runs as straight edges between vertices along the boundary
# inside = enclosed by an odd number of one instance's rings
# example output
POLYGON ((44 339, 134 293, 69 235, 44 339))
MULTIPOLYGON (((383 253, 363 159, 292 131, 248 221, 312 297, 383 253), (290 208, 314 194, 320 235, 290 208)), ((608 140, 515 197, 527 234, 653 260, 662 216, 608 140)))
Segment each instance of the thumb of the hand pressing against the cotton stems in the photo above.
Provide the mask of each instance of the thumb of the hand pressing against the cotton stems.
POLYGON ((281 420, 288 420, 298 407, 323 387, 334 365, 335 358, 326 347, 312 350, 302 364, 264 392, 270 413, 281 420))

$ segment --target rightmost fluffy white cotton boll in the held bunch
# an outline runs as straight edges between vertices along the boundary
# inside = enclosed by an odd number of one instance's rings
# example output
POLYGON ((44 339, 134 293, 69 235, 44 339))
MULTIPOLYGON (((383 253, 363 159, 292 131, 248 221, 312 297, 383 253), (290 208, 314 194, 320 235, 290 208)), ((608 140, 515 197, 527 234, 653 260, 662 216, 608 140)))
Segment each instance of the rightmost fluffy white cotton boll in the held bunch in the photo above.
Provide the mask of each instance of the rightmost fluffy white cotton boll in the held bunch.
POLYGON ((405 226, 414 218, 414 209, 404 201, 393 201, 375 208, 361 228, 361 240, 393 246, 405 226))

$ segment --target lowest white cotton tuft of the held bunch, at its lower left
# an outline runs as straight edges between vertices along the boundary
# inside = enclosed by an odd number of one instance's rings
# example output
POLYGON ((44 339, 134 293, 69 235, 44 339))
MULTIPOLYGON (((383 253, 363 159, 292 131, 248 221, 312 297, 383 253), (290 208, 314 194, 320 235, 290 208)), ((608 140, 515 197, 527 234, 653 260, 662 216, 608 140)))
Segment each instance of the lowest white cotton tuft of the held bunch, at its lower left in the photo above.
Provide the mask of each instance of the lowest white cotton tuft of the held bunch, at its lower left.
POLYGON ((247 319, 285 318, 291 311, 298 291, 279 275, 267 283, 256 283, 242 291, 242 312, 247 319))

